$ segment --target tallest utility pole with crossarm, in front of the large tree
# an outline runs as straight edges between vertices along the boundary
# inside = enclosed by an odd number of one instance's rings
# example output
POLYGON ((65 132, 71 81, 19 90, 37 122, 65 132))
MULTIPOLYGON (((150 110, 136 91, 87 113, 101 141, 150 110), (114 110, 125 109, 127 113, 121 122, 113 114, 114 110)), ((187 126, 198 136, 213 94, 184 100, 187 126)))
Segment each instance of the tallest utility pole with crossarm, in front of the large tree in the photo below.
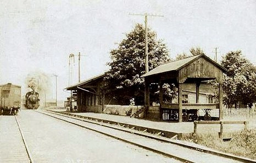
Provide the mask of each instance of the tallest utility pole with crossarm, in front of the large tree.
POLYGON ((145 16, 145 69, 146 73, 148 73, 148 16, 160 16, 164 17, 163 15, 156 15, 156 14, 129 14, 129 15, 138 15, 138 16, 145 16))

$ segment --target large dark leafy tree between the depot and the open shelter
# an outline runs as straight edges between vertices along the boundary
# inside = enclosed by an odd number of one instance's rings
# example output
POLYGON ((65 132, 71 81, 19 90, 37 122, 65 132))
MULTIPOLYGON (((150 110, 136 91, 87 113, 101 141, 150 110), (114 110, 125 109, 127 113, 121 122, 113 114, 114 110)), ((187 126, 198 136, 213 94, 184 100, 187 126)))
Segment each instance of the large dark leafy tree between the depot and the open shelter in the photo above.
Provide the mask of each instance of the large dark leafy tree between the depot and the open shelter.
MULTIPOLYGON (((135 104, 144 103, 144 63, 145 34, 144 27, 137 24, 126 34, 117 49, 110 51, 112 62, 106 73, 109 95, 123 104, 129 104, 135 98, 135 104)), ((163 63, 169 62, 168 49, 163 40, 156 40, 156 33, 148 29, 148 60, 149 71, 163 63)), ((152 89, 155 86, 152 86, 152 89)), ((157 92, 151 91, 151 92, 157 92)))

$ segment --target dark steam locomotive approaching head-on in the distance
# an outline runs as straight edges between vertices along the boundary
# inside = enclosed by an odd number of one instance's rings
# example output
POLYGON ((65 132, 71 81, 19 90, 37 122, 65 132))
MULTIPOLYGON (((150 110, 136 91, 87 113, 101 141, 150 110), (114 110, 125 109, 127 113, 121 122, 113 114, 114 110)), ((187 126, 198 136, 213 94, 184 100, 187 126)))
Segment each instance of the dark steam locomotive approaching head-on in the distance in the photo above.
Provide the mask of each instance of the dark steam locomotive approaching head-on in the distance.
POLYGON ((27 92, 25 96, 25 100, 26 100, 25 107, 28 109, 37 109, 40 106, 39 104, 40 99, 38 98, 38 92, 36 92, 35 90, 27 92))

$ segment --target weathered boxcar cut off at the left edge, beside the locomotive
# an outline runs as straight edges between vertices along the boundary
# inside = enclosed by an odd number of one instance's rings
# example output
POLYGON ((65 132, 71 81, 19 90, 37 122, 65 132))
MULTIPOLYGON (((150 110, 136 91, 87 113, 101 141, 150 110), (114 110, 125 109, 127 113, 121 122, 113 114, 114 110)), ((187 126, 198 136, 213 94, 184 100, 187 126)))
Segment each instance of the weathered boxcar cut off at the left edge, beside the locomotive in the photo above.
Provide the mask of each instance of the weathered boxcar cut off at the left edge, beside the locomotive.
POLYGON ((21 86, 12 83, 0 85, 0 114, 16 115, 20 109, 21 86))

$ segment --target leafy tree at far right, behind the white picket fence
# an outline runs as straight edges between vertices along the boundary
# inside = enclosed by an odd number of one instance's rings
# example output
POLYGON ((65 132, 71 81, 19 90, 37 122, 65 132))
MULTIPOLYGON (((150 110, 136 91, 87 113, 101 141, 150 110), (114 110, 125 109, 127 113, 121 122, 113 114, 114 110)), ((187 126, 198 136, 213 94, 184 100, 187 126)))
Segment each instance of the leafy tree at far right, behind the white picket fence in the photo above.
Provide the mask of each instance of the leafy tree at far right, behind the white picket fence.
POLYGON ((256 73, 253 64, 238 50, 227 53, 221 65, 227 69, 223 84, 224 103, 231 107, 242 102, 244 106, 252 107, 256 102, 256 73))

